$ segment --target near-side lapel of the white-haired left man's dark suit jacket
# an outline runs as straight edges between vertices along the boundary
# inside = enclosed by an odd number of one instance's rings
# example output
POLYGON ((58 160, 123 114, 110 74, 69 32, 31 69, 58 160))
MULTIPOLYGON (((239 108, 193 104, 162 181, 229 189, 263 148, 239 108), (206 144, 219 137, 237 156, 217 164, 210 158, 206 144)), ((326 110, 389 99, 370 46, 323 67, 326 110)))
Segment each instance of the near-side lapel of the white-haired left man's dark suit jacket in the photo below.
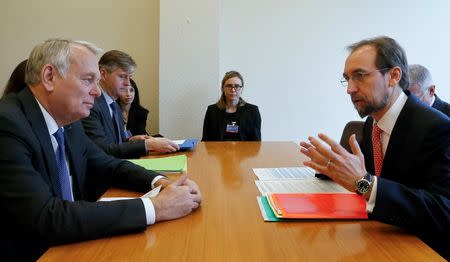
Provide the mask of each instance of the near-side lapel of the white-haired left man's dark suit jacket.
MULTIPOLYGON (((43 152, 43 157, 45 159, 46 168, 49 174, 48 180, 52 184, 51 188, 56 190, 57 188, 60 188, 58 182, 58 172, 56 169, 56 158, 44 116, 42 115, 41 109, 29 88, 25 88, 22 92, 20 92, 18 97, 22 103, 24 114, 30 122, 33 132, 41 145, 41 150, 43 152)), ((54 193, 57 196, 62 197, 61 192, 59 190, 56 191, 57 192, 54 193)))

